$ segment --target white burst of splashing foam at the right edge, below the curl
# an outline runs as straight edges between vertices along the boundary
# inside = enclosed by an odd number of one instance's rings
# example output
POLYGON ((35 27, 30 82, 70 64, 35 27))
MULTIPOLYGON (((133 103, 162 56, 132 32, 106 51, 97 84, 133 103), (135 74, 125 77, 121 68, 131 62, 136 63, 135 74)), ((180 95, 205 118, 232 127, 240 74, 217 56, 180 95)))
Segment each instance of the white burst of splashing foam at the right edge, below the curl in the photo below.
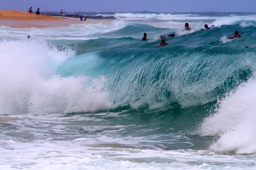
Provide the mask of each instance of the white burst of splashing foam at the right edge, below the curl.
POLYGON ((201 134, 220 135, 210 147, 214 151, 256 153, 256 81, 240 85, 220 101, 216 113, 204 120, 201 134))

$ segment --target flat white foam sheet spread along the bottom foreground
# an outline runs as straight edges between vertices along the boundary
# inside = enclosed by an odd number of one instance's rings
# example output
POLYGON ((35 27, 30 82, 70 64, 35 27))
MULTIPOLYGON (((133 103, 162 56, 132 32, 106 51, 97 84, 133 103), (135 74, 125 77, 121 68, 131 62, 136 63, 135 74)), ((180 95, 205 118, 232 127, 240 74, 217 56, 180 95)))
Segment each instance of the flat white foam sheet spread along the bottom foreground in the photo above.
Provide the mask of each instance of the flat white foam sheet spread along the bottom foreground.
POLYGON ((253 158, 243 160, 241 156, 236 158, 228 155, 219 156, 209 151, 136 149, 118 144, 90 147, 84 146, 84 142, 87 140, 52 143, 20 143, 2 140, 0 141, 0 169, 240 170, 250 168, 246 164, 256 163, 253 158))

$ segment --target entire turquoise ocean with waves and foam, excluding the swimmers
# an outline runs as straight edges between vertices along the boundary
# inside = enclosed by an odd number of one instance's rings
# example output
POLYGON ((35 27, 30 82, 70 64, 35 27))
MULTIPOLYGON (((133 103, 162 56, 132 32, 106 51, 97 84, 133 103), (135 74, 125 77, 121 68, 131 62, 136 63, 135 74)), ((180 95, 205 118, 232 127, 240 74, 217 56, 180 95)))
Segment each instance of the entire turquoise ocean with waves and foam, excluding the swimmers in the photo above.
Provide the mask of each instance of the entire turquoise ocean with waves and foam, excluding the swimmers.
POLYGON ((256 169, 256 13, 78 14, 0 26, 0 170, 256 169))

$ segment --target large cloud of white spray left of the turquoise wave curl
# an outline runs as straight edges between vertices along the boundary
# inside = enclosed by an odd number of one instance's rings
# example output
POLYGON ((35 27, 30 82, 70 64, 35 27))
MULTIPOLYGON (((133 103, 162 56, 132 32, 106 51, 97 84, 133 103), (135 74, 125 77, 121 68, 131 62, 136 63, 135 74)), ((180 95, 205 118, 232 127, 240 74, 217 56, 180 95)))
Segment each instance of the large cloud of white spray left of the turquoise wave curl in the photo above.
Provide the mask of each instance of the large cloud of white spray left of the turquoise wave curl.
POLYGON ((0 114, 79 112, 111 107, 105 77, 55 73, 75 53, 36 40, 0 42, 0 114))

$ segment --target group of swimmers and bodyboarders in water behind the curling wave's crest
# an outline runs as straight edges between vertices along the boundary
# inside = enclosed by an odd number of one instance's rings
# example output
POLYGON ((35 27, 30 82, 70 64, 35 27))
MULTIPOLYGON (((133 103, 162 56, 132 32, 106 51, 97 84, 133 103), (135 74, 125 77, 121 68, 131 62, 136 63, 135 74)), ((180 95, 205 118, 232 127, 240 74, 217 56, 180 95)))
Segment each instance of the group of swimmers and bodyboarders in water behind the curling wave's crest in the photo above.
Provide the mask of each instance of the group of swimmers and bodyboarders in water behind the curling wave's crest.
MULTIPOLYGON (((212 27, 208 27, 208 25, 207 24, 205 24, 204 25, 204 28, 205 29, 212 29, 212 28, 215 28, 215 26, 214 25, 212 25, 212 27)), ((183 29, 183 31, 191 31, 192 29, 189 27, 189 23, 185 23, 185 28, 183 29)), ((169 35, 166 35, 166 34, 161 34, 160 35, 160 39, 162 39, 162 42, 160 43, 160 46, 164 46, 164 45, 168 45, 168 43, 166 43, 165 42, 165 38, 170 38, 170 37, 175 37, 175 36, 177 36, 177 35, 175 35, 175 34, 169 34, 169 35)), ((241 38, 242 36, 241 35, 239 35, 239 32, 238 31, 235 31, 235 34, 234 34, 234 37, 227 37, 227 39, 234 39, 234 38, 241 38)), ((146 33, 144 33, 144 37, 142 38, 142 40, 141 41, 145 41, 145 40, 147 40, 147 34, 146 33)), ((248 47, 246 47, 246 48, 248 48, 248 47)))

